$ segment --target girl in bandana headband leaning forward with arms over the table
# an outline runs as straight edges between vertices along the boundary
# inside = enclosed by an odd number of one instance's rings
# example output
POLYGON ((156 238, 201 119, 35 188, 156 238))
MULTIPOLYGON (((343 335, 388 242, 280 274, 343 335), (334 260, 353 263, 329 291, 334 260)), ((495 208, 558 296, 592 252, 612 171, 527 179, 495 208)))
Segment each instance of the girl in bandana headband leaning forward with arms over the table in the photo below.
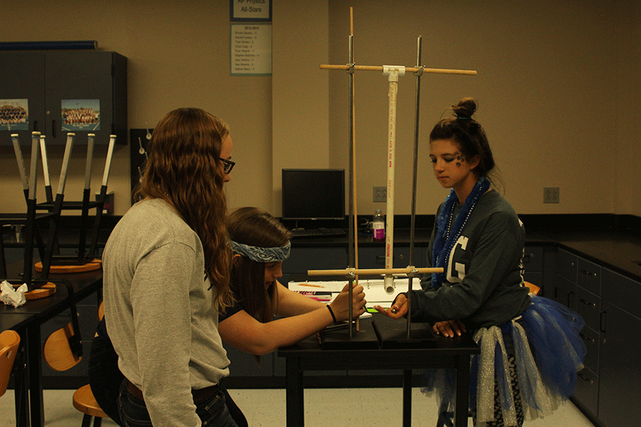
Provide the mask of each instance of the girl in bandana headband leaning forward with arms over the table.
MULTIPOLYGON (((219 317, 224 342, 256 355, 295 344, 333 322, 348 320, 349 292, 328 305, 288 290, 278 282, 289 255, 290 234, 266 211, 241 208, 227 219, 233 252, 231 291, 236 305, 219 317), (278 320, 274 320, 274 317, 278 320)), ((365 312, 363 286, 353 290, 354 318, 365 312)))

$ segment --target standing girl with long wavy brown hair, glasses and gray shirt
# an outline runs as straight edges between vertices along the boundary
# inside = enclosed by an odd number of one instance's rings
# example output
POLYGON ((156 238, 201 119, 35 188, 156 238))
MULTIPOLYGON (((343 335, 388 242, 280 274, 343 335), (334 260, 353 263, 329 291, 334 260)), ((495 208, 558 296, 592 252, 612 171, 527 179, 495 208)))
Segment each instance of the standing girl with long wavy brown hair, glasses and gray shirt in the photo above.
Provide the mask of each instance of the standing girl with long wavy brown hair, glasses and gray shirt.
POLYGON ((219 381, 229 359, 218 332, 231 304, 223 184, 229 128, 180 108, 152 134, 140 198, 103 254, 105 320, 125 376, 126 426, 236 426, 219 381))

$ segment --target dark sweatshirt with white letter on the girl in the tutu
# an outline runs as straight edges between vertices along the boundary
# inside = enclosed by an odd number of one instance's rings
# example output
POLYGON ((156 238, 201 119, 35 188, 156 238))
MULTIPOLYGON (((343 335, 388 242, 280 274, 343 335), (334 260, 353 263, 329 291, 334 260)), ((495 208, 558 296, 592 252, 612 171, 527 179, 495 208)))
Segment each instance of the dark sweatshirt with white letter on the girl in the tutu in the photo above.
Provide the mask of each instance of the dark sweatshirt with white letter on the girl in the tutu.
MULTIPOLYGON (((438 215, 443 205, 439 206, 438 215)), ((454 208, 454 216, 462 205, 454 208)), ((436 223, 429 242, 432 266, 436 223)), ((412 320, 462 320, 468 330, 501 325, 528 307, 521 275, 525 230, 512 206, 497 191, 481 195, 446 267, 447 282, 432 288, 432 276, 412 291, 412 320)))

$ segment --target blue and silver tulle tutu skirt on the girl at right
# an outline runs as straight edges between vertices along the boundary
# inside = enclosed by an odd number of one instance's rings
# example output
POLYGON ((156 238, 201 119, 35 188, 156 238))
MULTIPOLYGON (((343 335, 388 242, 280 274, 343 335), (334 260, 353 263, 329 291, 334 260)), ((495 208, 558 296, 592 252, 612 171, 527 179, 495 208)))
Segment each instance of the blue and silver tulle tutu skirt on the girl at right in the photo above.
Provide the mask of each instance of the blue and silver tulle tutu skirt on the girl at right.
MULTIPOLYGON (((494 419, 494 389, 498 384, 506 426, 516 426, 509 355, 514 355, 525 419, 552 413, 574 394, 577 372, 587 349, 579 332, 585 322, 573 310, 545 297, 531 295, 522 315, 504 325, 483 327, 474 334, 481 353, 470 362, 469 405, 476 422, 494 419)), ((422 391, 437 394, 442 410, 454 408, 455 372, 426 371, 422 391)))

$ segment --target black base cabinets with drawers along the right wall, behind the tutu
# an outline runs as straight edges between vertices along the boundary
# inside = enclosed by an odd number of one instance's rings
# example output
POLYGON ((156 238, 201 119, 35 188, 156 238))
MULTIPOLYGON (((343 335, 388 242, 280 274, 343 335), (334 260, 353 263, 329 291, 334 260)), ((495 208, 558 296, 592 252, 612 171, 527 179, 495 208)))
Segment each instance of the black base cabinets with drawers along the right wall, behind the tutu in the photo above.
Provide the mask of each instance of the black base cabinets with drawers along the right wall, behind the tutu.
POLYGON ((641 283, 561 248, 555 296, 585 320, 588 354, 573 400, 605 426, 641 423, 641 283))

